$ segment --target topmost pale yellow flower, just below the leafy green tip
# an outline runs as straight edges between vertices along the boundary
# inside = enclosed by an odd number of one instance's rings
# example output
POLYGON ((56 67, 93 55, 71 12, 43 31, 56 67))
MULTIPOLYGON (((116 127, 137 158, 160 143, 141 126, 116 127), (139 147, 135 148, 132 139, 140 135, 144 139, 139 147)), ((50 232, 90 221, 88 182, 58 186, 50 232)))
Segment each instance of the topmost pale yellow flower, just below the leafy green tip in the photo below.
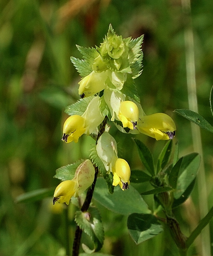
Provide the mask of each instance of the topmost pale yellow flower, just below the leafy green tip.
POLYGON ((108 71, 102 71, 100 73, 92 71, 88 76, 83 77, 78 83, 80 85, 78 89, 80 97, 92 96, 105 89, 107 76, 108 71))

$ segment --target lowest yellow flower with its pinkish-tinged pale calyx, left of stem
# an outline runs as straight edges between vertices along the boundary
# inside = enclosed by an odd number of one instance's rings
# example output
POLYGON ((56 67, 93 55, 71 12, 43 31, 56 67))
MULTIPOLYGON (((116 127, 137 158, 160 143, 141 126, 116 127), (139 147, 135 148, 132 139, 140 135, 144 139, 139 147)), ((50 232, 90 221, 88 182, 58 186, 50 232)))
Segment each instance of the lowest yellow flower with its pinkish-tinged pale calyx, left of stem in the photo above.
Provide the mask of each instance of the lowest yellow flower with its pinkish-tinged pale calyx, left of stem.
POLYGON ((81 163, 76 169, 75 176, 72 180, 62 181, 55 189, 53 204, 59 203, 69 204, 72 196, 78 197, 94 181, 95 169, 89 159, 81 163))

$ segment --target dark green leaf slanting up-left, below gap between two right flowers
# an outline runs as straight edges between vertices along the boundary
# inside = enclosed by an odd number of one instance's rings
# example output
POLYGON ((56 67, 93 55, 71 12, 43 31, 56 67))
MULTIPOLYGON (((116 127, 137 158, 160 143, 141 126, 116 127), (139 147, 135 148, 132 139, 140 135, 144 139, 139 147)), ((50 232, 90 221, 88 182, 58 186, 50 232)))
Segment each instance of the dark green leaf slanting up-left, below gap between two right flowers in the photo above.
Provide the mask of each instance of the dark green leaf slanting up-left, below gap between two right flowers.
POLYGON ((147 146, 142 141, 139 141, 135 138, 133 138, 133 140, 136 143, 137 150, 144 167, 152 176, 154 176, 155 168, 154 168, 153 155, 151 151, 147 148, 147 146))

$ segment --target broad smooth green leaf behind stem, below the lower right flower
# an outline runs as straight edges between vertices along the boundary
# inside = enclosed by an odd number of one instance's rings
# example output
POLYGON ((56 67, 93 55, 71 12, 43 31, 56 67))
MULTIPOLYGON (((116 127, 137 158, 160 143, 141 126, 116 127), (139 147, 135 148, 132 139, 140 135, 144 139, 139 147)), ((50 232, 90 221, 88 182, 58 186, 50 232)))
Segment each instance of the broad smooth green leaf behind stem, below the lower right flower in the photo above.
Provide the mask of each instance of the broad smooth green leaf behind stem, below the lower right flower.
POLYGON ((110 194, 103 178, 98 178, 93 193, 93 198, 111 211, 129 215, 131 213, 150 213, 148 205, 139 192, 129 185, 129 189, 123 191, 119 186, 110 194))

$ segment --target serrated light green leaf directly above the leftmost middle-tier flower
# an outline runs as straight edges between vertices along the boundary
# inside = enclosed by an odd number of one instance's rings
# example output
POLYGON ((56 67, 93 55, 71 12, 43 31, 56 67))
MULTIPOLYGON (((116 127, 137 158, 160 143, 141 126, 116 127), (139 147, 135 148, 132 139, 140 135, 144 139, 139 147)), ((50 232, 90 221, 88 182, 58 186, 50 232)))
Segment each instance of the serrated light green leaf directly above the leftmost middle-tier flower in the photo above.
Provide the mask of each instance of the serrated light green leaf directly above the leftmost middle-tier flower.
POLYGON ((95 96, 90 96, 80 99, 75 103, 67 106, 64 112, 68 115, 82 115, 86 111, 88 104, 94 97, 95 96))

